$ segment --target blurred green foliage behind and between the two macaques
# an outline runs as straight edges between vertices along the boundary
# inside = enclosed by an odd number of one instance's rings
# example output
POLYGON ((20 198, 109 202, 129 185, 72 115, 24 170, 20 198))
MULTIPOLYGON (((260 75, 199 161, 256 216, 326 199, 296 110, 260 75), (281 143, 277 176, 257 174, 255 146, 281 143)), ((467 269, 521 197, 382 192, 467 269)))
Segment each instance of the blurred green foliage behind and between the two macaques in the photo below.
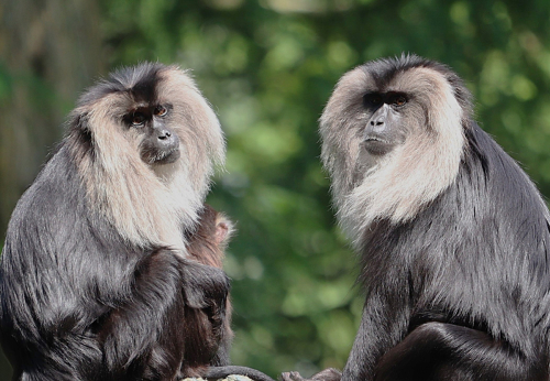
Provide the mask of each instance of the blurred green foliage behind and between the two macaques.
MULTIPOLYGON (((209 203, 237 221, 237 364, 272 375, 345 363, 362 309, 333 218, 317 120, 348 69, 414 52, 453 67, 483 128, 550 195, 550 2, 102 0, 108 67, 193 69, 228 138, 209 203)), ((0 67, 0 97, 11 86, 0 67)))

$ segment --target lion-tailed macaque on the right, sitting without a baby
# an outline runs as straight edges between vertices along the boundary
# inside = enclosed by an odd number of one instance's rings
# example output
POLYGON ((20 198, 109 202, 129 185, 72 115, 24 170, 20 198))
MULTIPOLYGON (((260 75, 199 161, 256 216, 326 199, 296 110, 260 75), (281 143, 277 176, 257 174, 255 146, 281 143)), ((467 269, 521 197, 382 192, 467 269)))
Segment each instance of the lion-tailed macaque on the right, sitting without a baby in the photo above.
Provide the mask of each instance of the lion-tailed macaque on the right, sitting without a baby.
POLYGON ((321 157, 366 302, 343 373, 314 380, 549 380, 550 214, 470 99, 415 55, 338 83, 321 157))

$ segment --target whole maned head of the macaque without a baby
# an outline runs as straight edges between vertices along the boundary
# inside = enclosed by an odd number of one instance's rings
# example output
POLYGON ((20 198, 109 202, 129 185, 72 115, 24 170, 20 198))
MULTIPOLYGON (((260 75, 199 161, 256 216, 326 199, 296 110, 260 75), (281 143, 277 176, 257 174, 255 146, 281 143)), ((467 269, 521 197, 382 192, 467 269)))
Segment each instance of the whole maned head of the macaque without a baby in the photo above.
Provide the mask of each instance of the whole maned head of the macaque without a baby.
POLYGON ((374 220, 406 221, 457 176, 470 94, 446 66, 410 55, 346 73, 320 119, 338 216, 358 240, 374 220))

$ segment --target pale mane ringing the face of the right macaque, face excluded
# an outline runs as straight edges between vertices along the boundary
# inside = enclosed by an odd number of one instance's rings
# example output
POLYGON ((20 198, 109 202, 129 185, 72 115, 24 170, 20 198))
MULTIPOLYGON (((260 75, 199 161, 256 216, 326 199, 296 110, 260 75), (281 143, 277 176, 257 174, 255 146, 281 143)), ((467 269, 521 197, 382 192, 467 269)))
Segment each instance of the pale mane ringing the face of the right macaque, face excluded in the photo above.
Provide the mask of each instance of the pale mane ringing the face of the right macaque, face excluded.
MULTIPOLYGON (((375 62, 377 69, 381 65, 389 63, 375 62)), ((321 159, 332 178, 339 221, 354 244, 360 244, 362 233, 375 220, 399 224, 414 218, 459 172, 465 144, 463 122, 470 118, 468 90, 458 89, 449 80, 457 76, 441 65, 402 66, 393 67, 384 78, 380 73, 375 78, 369 70, 372 67, 345 74, 320 119, 321 159), (358 123, 366 121, 360 99, 365 89, 378 86, 420 95, 416 101, 425 111, 407 126, 411 131, 405 144, 382 159, 370 159, 361 146, 362 126, 358 123)))

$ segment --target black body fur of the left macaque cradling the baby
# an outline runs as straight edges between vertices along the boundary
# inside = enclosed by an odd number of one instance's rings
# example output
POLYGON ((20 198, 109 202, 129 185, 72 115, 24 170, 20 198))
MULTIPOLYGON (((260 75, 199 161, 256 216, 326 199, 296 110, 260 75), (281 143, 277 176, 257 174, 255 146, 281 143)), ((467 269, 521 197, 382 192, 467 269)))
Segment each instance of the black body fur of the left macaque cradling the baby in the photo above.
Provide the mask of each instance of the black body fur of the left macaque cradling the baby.
MULTIPOLYGON (((151 85, 156 66, 147 67, 151 85)), ((81 102, 117 86, 106 83, 81 102)), ((147 88, 136 92, 151 97, 147 88)), ((226 319, 227 275, 168 248, 134 246, 90 210, 75 164, 94 154, 86 116, 70 128, 8 227, 0 340, 13 380, 174 380, 226 364, 217 351, 228 346, 216 333, 226 319)))

